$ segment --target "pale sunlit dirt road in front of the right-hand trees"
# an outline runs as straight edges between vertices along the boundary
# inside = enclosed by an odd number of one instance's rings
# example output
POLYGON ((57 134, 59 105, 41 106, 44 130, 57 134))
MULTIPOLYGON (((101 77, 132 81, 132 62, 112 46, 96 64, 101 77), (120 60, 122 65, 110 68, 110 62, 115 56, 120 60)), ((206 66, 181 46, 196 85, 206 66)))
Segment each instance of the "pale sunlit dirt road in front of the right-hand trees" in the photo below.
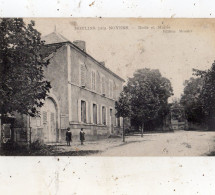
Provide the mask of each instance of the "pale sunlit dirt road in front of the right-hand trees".
POLYGON ((207 156, 215 151, 215 132, 176 131, 126 138, 124 145, 95 156, 207 156))

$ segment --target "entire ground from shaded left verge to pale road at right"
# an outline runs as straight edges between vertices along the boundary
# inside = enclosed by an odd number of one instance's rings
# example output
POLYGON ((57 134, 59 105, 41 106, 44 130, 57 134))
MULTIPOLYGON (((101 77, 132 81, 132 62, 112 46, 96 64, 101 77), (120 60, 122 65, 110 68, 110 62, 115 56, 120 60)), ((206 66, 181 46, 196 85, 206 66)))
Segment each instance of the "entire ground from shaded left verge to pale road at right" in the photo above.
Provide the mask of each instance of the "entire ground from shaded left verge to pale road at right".
POLYGON ((49 145, 40 150, 2 153, 2 155, 49 156, 208 156, 215 155, 215 132, 175 131, 168 133, 144 133, 122 138, 109 138, 49 145))

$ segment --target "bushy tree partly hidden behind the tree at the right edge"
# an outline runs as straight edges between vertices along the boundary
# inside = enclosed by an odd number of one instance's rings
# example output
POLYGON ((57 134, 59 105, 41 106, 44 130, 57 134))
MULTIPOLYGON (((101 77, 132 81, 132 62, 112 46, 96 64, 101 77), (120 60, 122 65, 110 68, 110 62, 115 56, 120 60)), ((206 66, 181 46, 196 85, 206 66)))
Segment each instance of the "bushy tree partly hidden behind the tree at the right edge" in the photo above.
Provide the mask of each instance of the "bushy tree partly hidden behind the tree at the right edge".
POLYGON ((188 122, 203 124, 205 121, 205 112, 202 99, 200 98, 203 78, 190 78, 184 82, 184 93, 180 103, 184 107, 185 116, 188 122))

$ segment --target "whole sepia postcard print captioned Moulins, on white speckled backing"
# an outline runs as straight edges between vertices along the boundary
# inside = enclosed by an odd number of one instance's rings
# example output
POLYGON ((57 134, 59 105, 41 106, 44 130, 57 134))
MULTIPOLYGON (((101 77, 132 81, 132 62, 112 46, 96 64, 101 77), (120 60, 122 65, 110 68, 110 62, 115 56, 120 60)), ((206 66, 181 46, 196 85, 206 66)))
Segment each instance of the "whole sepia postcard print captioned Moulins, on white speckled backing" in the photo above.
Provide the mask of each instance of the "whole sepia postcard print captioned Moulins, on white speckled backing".
POLYGON ((1 156, 214 156, 215 19, 0 18, 1 156))

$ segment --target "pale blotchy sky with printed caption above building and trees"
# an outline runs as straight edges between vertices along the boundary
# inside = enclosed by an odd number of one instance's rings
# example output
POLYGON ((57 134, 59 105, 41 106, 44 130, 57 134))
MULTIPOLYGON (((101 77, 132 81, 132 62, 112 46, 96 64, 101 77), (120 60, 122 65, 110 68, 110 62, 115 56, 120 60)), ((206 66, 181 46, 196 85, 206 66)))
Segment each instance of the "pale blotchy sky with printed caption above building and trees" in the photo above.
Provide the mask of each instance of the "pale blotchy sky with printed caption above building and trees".
POLYGON ((32 20, 42 36, 56 28, 70 41, 84 40, 88 54, 105 61, 106 67, 125 80, 140 68, 159 69, 172 83, 173 98, 180 98, 193 68, 208 69, 215 60, 215 19, 32 20), (123 29, 117 29, 119 26, 123 29))

